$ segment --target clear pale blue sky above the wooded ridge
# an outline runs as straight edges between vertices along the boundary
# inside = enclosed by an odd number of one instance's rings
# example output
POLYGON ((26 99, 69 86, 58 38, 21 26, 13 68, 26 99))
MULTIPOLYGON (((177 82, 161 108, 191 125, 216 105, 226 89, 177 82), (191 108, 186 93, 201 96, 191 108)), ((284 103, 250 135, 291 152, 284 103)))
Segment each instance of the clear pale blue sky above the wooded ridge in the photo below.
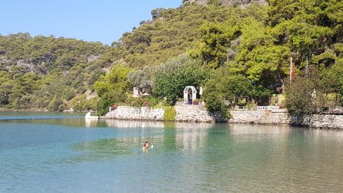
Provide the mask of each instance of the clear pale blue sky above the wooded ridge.
POLYGON ((123 32, 151 19, 155 8, 177 8, 182 0, 1 0, 0 34, 29 32, 101 41, 110 45, 123 32))

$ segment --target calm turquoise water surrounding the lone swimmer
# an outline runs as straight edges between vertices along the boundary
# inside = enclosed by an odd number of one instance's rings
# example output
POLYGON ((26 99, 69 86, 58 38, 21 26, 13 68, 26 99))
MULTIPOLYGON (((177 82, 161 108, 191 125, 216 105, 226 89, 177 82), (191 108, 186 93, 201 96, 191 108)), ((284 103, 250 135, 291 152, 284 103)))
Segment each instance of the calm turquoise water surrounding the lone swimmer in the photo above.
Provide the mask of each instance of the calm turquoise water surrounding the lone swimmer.
POLYGON ((0 192, 343 190, 342 131, 0 116, 0 192))

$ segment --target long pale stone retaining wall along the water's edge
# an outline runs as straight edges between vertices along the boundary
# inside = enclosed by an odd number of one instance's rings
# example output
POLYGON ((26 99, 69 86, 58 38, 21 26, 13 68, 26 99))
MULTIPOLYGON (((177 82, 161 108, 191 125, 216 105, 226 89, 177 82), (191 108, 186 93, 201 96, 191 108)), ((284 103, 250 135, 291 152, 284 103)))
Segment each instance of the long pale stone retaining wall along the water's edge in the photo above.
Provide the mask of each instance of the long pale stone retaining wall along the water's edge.
MULTIPOLYGON (((182 105, 174 106, 176 122, 225 122, 219 112, 210 113, 204 106, 182 105)), ((116 120, 142 120, 163 121, 165 110, 163 108, 134 108, 131 106, 118 106, 117 109, 104 115, 102 118, 116 120)), ((289 117, 286 112, 273 112, 269 110, 239 110, 230 111, 232 118, 229 123, 251 124, 294 124, 316 128, 343 129, 343 115, 301 115, 289 117)))

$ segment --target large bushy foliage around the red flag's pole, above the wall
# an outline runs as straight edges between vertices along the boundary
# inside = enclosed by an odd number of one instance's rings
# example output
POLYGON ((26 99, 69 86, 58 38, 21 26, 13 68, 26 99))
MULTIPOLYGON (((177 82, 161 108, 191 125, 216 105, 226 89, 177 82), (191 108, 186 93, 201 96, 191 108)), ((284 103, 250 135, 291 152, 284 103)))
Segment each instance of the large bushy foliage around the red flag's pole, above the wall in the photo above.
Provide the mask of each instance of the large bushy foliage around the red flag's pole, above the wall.
POLYGON ((322 73, 316 67, 309 70, 308 77, 299 76, 286 84, 288 113, 332 113, 342 101, 343 65, 336 63, 322 73))

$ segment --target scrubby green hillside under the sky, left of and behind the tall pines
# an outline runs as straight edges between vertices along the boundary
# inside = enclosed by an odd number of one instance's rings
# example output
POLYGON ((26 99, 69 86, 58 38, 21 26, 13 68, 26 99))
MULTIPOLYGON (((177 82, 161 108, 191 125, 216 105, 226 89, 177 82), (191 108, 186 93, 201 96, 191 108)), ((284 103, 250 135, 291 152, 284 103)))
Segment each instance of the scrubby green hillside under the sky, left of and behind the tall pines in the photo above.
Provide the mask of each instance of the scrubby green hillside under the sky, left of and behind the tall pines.
POLYGON ((232 12, 232 8, 187 3, 157 8, 152 19, 123 33, 111 47, 27 33, 0 36, 0 73, 5 75, 0 78, 0 107, 95 109, 96 101, 86 100, 96 96, 94 82, 113 65, 143 69, 165 63, 196 47, 204 23, 225 21, 232 12))

